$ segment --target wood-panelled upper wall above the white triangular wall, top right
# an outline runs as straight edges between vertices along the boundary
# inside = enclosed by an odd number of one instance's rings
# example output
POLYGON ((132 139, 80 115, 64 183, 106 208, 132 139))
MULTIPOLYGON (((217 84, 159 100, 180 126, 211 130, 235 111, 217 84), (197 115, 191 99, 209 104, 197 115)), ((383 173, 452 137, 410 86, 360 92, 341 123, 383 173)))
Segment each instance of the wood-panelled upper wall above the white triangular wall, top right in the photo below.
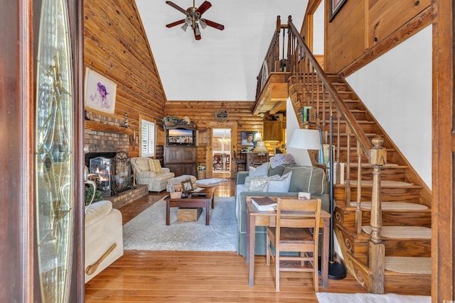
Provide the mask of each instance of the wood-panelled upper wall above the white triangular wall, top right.
POLYGON ((350 75, 367 65, 431 24, 431 4, 431 0, 346 1, 326 23, 324 70, 350 75))

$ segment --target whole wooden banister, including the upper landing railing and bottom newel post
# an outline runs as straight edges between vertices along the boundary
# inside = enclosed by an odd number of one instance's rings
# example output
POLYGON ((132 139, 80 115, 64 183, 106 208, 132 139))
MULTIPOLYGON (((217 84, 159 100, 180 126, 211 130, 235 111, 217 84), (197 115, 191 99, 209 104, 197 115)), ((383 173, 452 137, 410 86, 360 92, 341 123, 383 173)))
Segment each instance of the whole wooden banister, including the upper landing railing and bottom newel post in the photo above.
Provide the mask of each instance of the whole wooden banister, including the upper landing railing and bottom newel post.
MULTIPOLYGON (((368 162, 373 167, 373 189, 372 189, 372 210, 370 215, 370 226, 372 228, 372 233, 370 234, 370 246, 369 246, 369 268, 373 276, 373 289, 375 293, 382 293, 384 291, 384 258, 385 258, 385 247, 382 244, 382 238, 380 231, 382 228, 382 207, 381 207, 381 198, 380 198, 380 175, 381 167, 385 164, 386 160, 386 151, 385 148, 382 148, 383 140, 380 137, 374 138, 373 143, 368 139, 363 128, 358 123, 355 116, 350 111, 346 102, 343 101, 343 98, 338 93, 335 85, 338 85, 336 79, 333 80, 333 77, 336 75, 331 75, 331 78, 326 75, 323 71, 321 65, 316 60, 314 55, 311 53, 311 50, 306 45, 304 39, 301 37, 299 31, 295 28, 292 23, 291 16, 288 18, 287 25, 280 24, 280 18, 277 17, 277 28, 274 31, 274 36, 272 38, 272 43, 269 45, 269 50, 267 51, 266 58, 264 62, 267 62, 267 65, 263 65, 261 71, 259 72, 258 87, 257 87, 257 96, 261 93, 261 89, 264 81, 262 77, 268 77, 269 72, 276 72, 279 68, 284 68, 284 62, 286 62, 286 71, 290 72, 289 76, 289 87, 292 87, 292 92, 294 92, 294 109, 302 110, 304 106, 311 106, 312 114, 309 116, 310 123, 317 123, 322 131, 326 130, 326 124, 328 123, 327 119, 330 119, 330 131, 329 137, 331 138, 331 157, 333 157, 333 137, 337 137, 336 142, 336 164, 333 167, 330 167, 331 173, 331 203, 333 202, 333 169, 337 167, 337 177, 336 184, 339 184, 341 177, 338 177, 340 174, 341 167, 341 153, 346 148, 346 197, 345 205, 348 206, 351 197, 350 189, 351 187, 357 186, 357 197, 358 202, 357 209, 355 211, 355 231, 361 233, 362 227, 362 211, 361 207, 361 190, 362 190, 362 180, 361 173, 362 170, 362 156, 368 159, 368 162), (287 36, 284 35, 284 31, 287 28, 287 36), (283 30, 283 41, 282 41, 282 51, 280 54, 280 40, 279 35, 283 30), (287 38, 287 41, 285 41, 287 38), (287 42, 287 43, 286 43, 287 42), (285 49, 287 48, 287 49, 285 49), (286 60, 284 57, 280 60, 280 55, 287 55, 286 60), (283 62, 281 65, 280 62, 283 62), (267 75, 265 75, 264 69, 267 68, 267 75), (304 105, 302 105, 304 104, 304 105), (337 119, 337 130, 336 135, 333 133, 333 114, 336 112, 337 119), (341 142, 341 119, 346 123, 346 142, 341 142), (357 180, 356 184, 354 181, 350 180, 350 145, 351 138, 355 141, 356 144, 356 153, 357 156, 357 180), (343 144, 343 146, 342 146, 343 144), (351 184, 352 183, 352 184, 351 184)), ((291 88, 290 88, 291 89, 291 88)), ((307 121, 302 121, 302 124, 307 121)), ((302 125, 301 125, 302 127, 302 125)), ((353 153, 354 155, 354 153, 353 153)), ((333 159, 333 158, 332 158, 333 159)), ((334 159, 333 159, 334 160, 334 159)), ((333 164, 333 163, 331 163, 333 164)), ((331 251, 331 254, 333 252, 331 251)))

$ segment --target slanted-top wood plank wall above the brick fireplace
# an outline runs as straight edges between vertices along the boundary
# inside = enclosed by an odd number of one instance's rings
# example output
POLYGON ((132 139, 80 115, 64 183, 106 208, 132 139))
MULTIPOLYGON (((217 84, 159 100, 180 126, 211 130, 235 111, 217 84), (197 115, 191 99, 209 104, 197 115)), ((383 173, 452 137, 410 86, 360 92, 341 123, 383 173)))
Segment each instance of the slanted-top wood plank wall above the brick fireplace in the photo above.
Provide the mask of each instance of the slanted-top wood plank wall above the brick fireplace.
MULTIPOLYGON (((117 84, 112 118, 127 113, 137 134, 139 114, 161 123, 166 95, 134 0, 84 1, 84 63, 117 84)), ((157 152, 162 158, 162 146, 157 152)), ((129 155, 138 156, 138 146, 129 145, 129 155)))

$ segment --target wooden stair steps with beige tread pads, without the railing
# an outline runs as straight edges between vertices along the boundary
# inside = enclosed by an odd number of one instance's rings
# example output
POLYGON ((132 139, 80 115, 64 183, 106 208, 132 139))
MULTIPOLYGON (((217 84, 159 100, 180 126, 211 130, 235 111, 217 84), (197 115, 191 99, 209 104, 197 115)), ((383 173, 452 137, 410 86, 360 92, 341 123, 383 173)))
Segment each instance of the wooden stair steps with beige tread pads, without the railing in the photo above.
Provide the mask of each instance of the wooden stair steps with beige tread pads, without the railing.
MULTIPOLYGON (((320 123, 323 131, 328 130, 328 93, 320 87, 315 92, 311 85, 302 85, 296 77, 299 76, 291 76, 288 82, 296 113, 304 106, 312 106, 317 110, 311 113, 311 118, 320 123)), ((315 75, 304 77, 311 79, 315 75)), ((387 164, 380 169, 380 233, 385 248, 383 292, 430 295, 431 192, 347 82, 337 75, 327 77, 365 135, 370 141, 383 138, 387 150, 387 164)), ((357 141, 343 116, 338 115, 337 107, 332 104, 331 110, 337 117, 333 123, 335 162, 338 170, 343 171, 334 185, 334 231, 348 272, 368 292, 376 292, 369 266, 373 165, 358 153, 357 141)))

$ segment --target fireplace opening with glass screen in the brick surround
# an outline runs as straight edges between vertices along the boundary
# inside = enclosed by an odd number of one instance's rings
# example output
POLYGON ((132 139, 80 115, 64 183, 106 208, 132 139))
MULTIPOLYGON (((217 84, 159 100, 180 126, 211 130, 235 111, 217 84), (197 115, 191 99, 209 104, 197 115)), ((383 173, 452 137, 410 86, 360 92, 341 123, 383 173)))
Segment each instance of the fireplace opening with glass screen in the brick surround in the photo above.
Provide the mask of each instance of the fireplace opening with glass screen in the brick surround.
POLYGON ((132 188, 131 161, 125 152, 87 153, 85 165, 102 197, 117 196, 132 188))

